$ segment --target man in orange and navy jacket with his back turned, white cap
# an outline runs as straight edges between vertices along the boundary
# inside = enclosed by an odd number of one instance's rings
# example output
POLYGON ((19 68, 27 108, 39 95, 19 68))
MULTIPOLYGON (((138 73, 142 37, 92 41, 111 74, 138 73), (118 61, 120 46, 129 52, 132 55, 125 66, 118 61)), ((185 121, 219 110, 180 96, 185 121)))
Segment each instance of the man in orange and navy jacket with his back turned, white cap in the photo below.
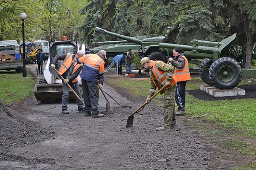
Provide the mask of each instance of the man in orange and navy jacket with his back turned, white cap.
POLYGON ((87 54, 78 59, 79 63, 83 63, 83 71, 81 73, 83 95, 85 102, 85 116, 103 117, 104 114, 98 111, 99 95, 97 93, 98 83, 103 87, 104 81, 104 65, 106 51, 100 50, 97 54, 87 54))

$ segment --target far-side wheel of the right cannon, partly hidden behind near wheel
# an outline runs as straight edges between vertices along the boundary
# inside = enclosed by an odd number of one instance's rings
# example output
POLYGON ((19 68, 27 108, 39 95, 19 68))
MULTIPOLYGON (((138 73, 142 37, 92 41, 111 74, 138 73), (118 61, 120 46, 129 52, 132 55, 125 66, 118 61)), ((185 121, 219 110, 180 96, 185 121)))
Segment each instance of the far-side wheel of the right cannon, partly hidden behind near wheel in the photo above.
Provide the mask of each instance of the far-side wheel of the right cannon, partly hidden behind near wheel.
POLYGON ((209 85, 213 85, 211 83, 210 78, 209 78, 209 69, 210 69, 210 66, 211 66, 212 62, 213 62, 212 59, 205 58, 203 60, 203 62, 201 62, 200 70, 199 70, 199 74, 200 74, 201 79, 203 80, 204 83, 207 83, 209 85))

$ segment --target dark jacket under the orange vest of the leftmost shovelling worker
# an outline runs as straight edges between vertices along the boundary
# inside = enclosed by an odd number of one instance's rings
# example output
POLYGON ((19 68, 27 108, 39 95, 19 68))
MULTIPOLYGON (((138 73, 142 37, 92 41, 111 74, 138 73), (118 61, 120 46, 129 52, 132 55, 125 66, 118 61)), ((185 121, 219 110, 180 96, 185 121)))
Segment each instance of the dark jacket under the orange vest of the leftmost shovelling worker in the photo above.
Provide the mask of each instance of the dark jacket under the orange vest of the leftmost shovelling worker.
MULTIPOLYGON (((59 60, 64 60, 66 58, 67 54, 58 54, 53 58, 52 63, 56 65, 57 61, 59 60)), ((73 55, 73 58, 75 58, 75 55, 73 55)), ((74 60, 74 62, 77 62, 76 60, 74 60)), ((71 65, 72 66, 72 65, 71 65)), ((70 68, 68 68, 68 70, 66 72, 64 72, 64 74, 62 75, 64 78, 68 78, 69 81, 74 80, 80 73, 80 71, 83 69, 83 67, 79 67, 79 69, 76 70, 76 72, 74 74, 71 74, 71 72, 73 71, 70 70, 70 68)))

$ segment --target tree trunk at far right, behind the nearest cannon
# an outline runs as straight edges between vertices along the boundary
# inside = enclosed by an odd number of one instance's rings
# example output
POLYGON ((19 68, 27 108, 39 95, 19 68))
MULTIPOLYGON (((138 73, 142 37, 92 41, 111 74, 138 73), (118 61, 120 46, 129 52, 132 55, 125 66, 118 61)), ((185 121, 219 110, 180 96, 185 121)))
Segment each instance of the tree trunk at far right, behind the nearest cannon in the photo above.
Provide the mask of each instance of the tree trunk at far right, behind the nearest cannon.
POLYGON ((252 29, 246 26, 246 59, 245 69, 251 69, 252 66, 252 29))

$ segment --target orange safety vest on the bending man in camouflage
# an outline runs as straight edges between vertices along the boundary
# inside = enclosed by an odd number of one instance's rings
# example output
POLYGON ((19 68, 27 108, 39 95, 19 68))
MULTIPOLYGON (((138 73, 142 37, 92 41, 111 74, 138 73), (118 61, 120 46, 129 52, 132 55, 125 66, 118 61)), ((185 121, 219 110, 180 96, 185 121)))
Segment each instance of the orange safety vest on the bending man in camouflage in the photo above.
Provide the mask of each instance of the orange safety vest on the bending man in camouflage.
MULTIPOLYGON (((158 81, 159 83, 161 83, 161 84, 164 86, 165 83, 166 83, 166 76, 167 76, 167 73, 164 72, 164 71, 159 70, 159 69, 157 68, 157 66, 155 65, 156 62, 157 62, 157 61, 151 60, 151 61, 150 61, 150 65, 151 65, 151 67, 152 67, 152 69, 153 69, 153 73, 154 73, 155 78, 157 79, 157 81, 158 81)), ((161 87, 159 87, 158 83, 155 82, 155 80, 153 79, 153 76, 151 76, 151 72, 149 72, 149 73, 150 73, 151 79, 152 79, 153 82, 154 82, 154 85, 158 88, 158 90, 160 90, 161 87)), ((173 87, 173 86, 177 83, 177 77, 176 77, 174 74, 169 75, 169 76, 171 76, 172 79, 171 79, 171 85, 170 85, 169 87, 166 87, 167 89, 170 88, 170 87, 173 87)), ((163 94, 163 93, 164 93, 163 91, 160 92, 160 94, 163 94)))

